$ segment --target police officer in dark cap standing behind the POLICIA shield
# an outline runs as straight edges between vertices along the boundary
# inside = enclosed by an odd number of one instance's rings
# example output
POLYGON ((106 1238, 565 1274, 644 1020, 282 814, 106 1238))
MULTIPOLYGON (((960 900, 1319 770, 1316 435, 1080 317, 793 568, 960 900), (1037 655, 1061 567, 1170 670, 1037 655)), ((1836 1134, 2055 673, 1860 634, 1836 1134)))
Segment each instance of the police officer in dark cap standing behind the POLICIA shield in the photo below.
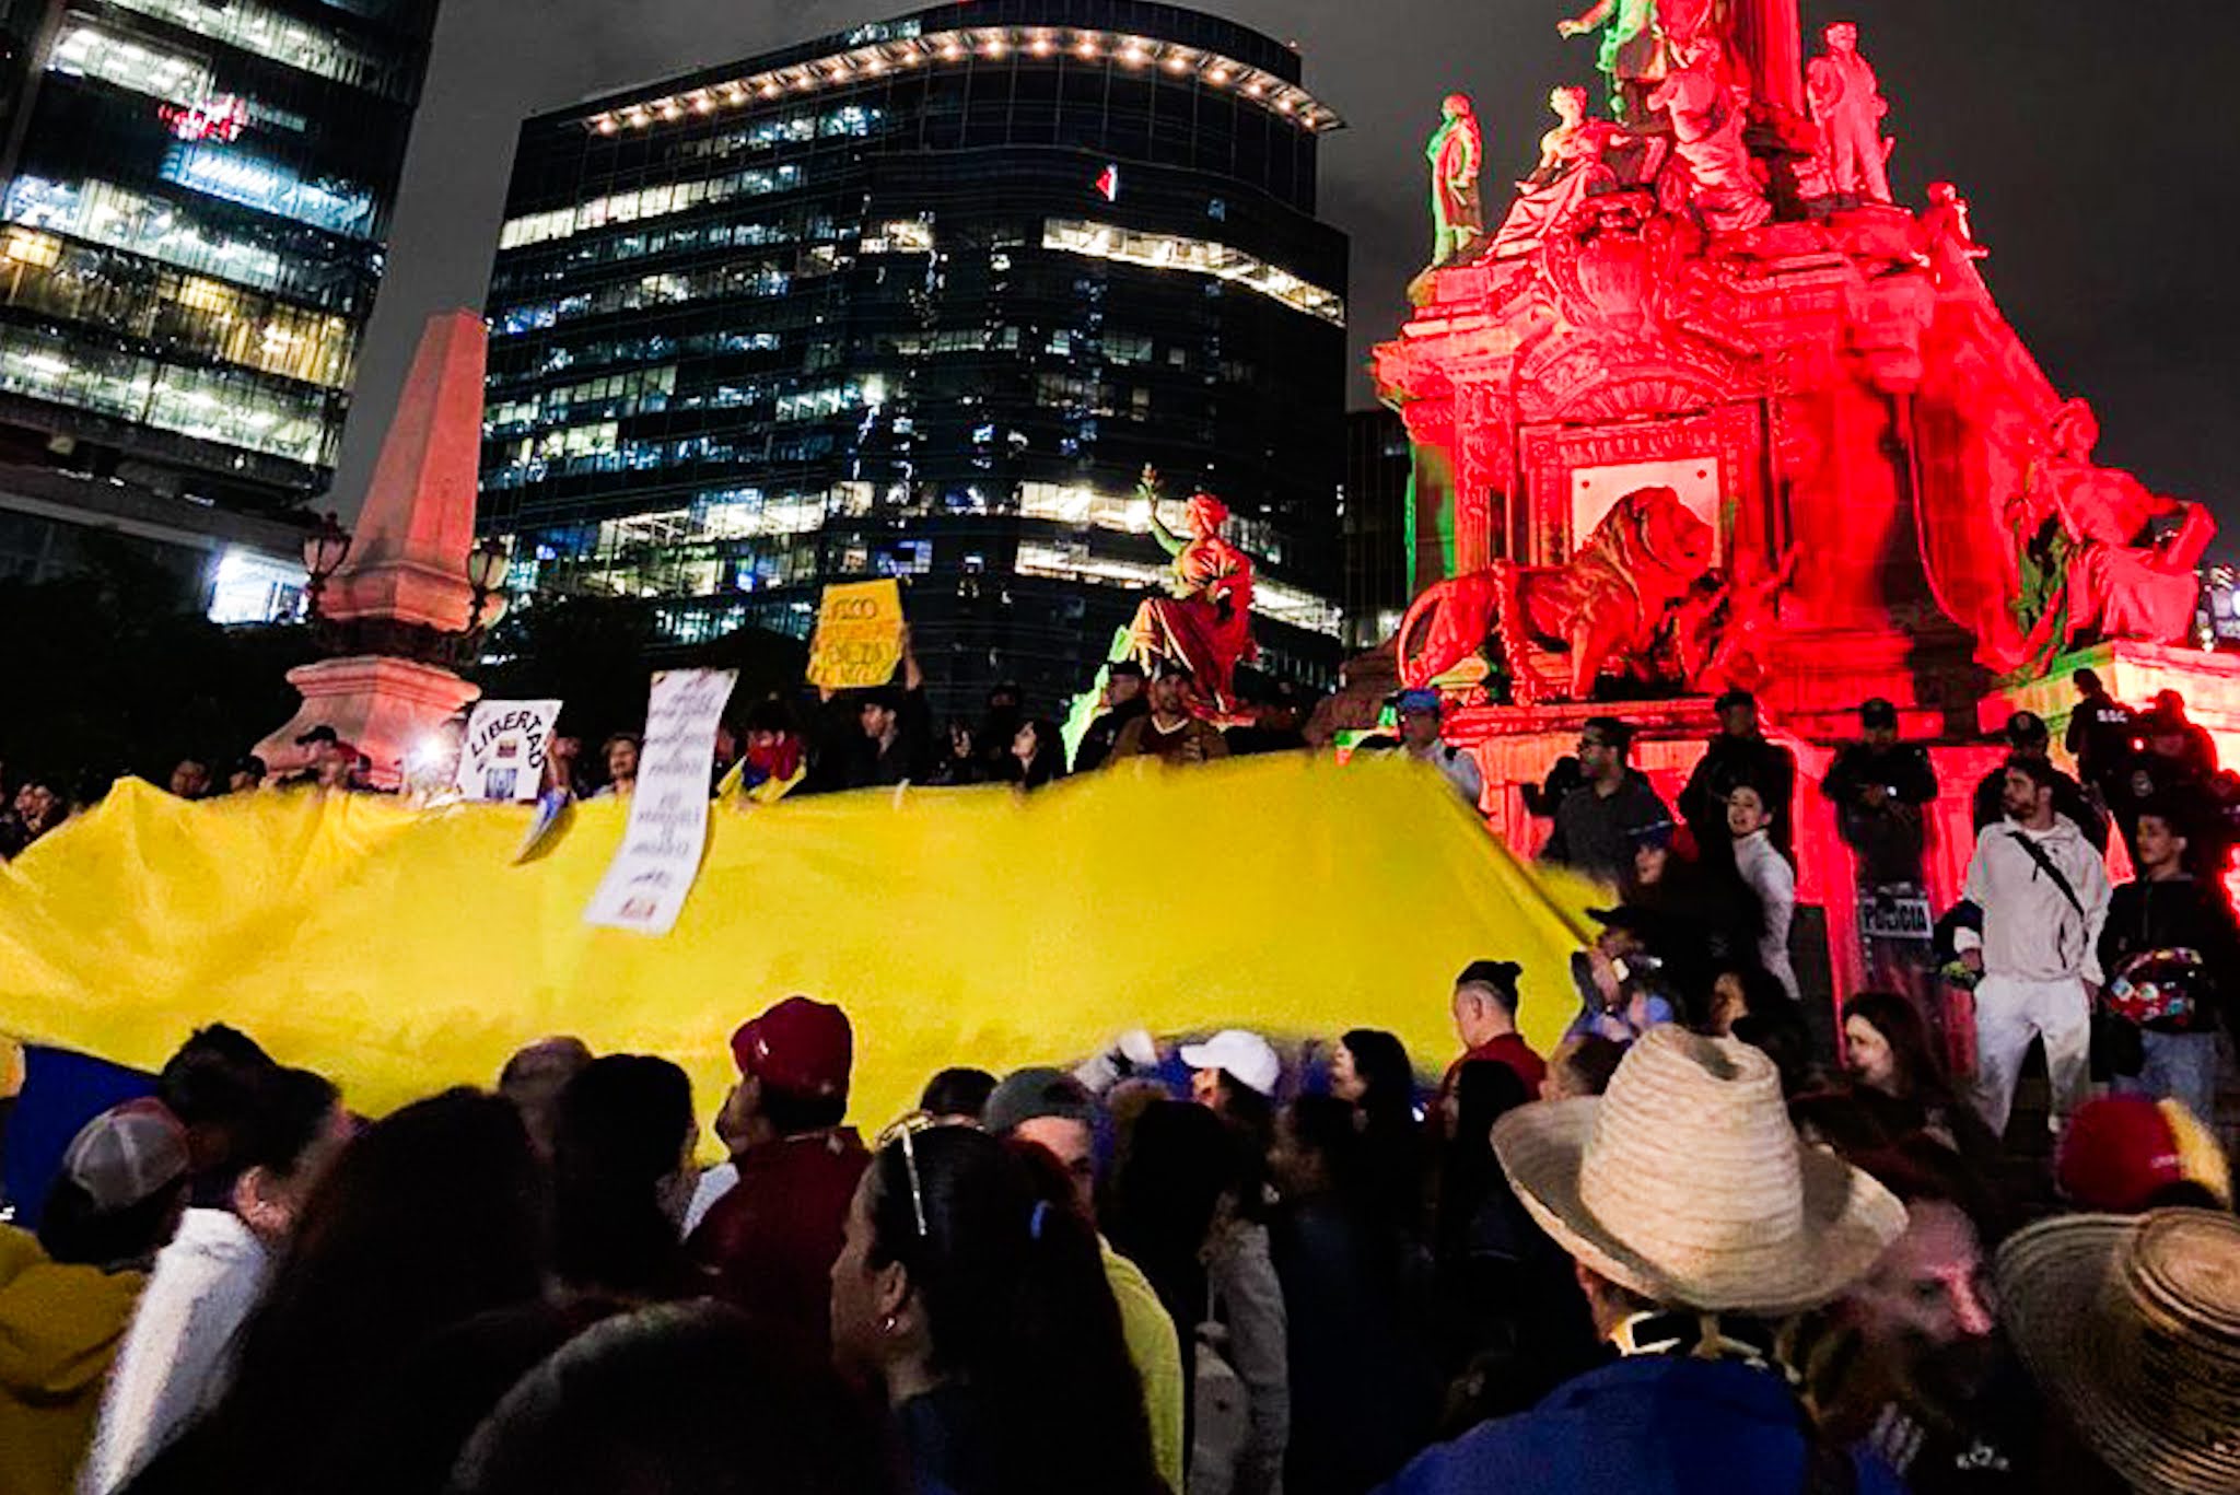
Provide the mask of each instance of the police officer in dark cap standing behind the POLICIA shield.
MULTIPOLYGON (((1835 805, 1835 827, 1850 847, 1866 982, 1922 1000, 1929 971, 1929 890, 1922 879, 1922 807, 1938 798, 1929 751, 1897 740, 1897 706, 1875 697, 1859 706, 1861 740, 1828 767, 1821 793, 1835 805)), ((1942 1024, 1935 1024, 1942 1027, 1942 1024)), ((1942 1033, 1940 1033, 1942 1038, 1942 1033)))

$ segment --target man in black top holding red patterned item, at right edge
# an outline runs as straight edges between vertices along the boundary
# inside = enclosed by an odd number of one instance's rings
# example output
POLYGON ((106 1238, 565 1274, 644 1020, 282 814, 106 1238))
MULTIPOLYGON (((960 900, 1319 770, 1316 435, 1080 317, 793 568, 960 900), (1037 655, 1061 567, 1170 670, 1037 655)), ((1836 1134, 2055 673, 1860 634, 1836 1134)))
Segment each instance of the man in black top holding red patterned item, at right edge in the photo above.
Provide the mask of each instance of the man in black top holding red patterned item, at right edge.
POLYGON ((2115 1087, 2186 1103, 2215 1118, 2218 1022, 2229 1020, 2240 982, 2240 930, 2224 888, 2195 881, 2184 809, 2150 800, 2139 811, 2139 879, 2108 901, 2099 957, 2108 1013, 2139 1029, 2137 1074, 2115 1087))

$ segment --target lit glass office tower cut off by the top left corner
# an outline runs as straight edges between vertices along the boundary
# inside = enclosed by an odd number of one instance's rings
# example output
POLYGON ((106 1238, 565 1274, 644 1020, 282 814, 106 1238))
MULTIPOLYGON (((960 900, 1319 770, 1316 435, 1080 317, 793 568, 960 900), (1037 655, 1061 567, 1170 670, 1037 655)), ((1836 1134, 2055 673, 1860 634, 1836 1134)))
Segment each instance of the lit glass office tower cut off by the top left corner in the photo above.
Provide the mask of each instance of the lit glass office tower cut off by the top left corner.
POLYGON ((16 0, 0 459, 284 509, 323 491, 435 0, 16 0))

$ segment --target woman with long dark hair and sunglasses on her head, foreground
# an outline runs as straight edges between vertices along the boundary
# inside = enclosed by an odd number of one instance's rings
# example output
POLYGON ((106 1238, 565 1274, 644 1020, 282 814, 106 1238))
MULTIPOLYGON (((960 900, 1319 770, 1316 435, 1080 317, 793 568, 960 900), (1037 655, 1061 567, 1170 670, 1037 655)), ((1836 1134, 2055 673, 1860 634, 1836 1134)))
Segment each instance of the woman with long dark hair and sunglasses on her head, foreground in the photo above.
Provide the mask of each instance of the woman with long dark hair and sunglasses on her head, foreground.
POLYGON ((1158 1495, 1095 1228, 1033 1148, 905 1116, 831 1266, 833 1363, 885 1392, 921 1495, 1158 1495))

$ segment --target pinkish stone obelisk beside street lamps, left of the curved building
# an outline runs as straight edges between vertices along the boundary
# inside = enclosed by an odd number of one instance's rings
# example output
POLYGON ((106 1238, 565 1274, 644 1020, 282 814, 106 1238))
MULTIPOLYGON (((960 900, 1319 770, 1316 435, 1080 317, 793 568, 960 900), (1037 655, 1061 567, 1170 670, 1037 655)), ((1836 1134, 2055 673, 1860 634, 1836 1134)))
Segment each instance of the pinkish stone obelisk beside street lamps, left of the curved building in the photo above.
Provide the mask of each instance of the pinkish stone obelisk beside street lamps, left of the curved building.
POLYGON ((253 749, 273 773, 311 767, 309 737, 329 728, 370 760, 372 787, 394 789, 412 749, 482 695, 452 663, 495 581, 493 554, 475 549, 486 352, 477 314, 428 318, 347 558, 318 587, 332 657, 289 670, 302 706, 253 749))

